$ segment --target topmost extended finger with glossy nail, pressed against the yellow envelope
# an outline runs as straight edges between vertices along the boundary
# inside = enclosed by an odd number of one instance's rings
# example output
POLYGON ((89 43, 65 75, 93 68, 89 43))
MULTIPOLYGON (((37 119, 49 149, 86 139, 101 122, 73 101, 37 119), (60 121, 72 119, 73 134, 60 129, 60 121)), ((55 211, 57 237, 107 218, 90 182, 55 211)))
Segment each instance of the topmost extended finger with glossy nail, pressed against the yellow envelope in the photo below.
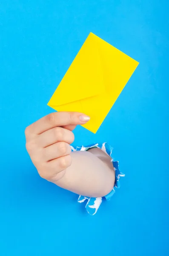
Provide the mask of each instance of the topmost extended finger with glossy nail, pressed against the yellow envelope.
POLYGON ((51 128, 64 125, 83 125, 88 122, 89 116, 79 112, 54 112, 29 125, 29 134, 41 134, 51 128))

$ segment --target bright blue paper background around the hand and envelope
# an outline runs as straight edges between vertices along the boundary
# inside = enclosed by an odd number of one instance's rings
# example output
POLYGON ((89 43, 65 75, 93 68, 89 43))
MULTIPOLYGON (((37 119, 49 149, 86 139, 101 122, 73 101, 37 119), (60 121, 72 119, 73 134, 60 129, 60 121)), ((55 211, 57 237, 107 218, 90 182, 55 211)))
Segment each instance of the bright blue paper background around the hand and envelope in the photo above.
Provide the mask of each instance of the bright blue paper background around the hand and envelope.
MULTIPOLYGON (((169 19, 165 0, 0 1, 0 255, 169 255, 169 19), (89 32, 140 64, 103 125, 126 174, 89 216, 77 195, 41 179, 25 149, 89 32)), ((83 133, 83 137, 80 134, 83 133)))

